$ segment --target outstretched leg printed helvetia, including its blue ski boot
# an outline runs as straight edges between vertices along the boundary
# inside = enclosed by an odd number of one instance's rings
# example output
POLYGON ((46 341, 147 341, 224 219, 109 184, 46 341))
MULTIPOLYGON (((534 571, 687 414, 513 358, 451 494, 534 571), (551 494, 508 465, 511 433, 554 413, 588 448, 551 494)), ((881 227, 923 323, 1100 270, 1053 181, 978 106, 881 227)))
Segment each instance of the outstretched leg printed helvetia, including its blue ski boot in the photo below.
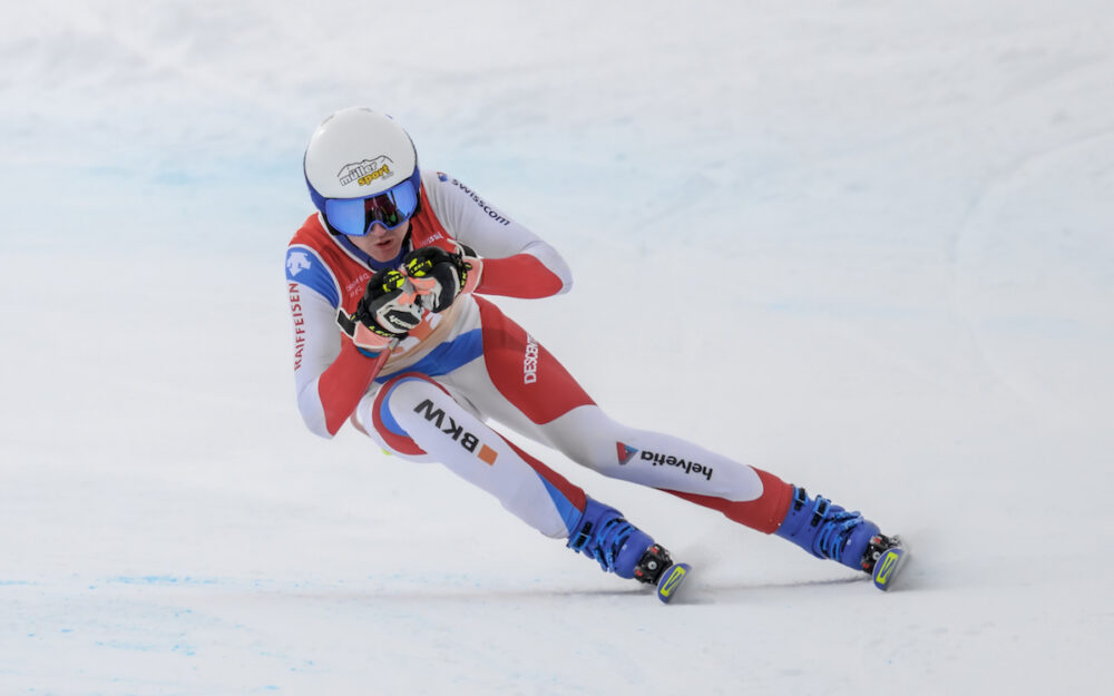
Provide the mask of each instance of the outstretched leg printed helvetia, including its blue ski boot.
POLYGON ((872 522, 823 498, 810 500, 803 489, 772 473, 693 442, 615 422, 497 307, 481 301, 480 314, 490 386, 470 398, 496 420, 605 476, 657 488, 746 527, 778 533, 815 556, 862 567, 862 551, 878 533, 872 522))

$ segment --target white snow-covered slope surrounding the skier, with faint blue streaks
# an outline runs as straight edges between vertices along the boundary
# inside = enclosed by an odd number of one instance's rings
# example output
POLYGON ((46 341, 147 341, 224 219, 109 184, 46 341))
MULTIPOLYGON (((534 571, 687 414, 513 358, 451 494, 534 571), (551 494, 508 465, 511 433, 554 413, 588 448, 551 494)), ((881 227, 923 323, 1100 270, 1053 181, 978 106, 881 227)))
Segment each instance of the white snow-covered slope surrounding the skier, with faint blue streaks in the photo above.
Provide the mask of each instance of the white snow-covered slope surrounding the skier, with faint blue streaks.
POLYGON ((0 694, 1102 693, 1112 47, 1104 0, 6 2, 0 694), (696 565, 665 607, 311 435, 282 257, 354 104, 566 254, 501 304, 613 415, 902 532, 902 590, 529 444, 696 565))

